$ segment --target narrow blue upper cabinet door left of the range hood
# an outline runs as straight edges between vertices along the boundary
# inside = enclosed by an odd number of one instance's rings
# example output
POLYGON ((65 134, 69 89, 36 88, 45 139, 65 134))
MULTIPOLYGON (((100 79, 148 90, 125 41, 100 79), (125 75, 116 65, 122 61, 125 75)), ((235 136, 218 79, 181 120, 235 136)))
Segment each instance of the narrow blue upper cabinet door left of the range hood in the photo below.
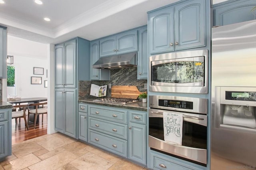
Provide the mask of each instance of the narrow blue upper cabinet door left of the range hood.
MULTIPOLYGON (((91 67, 100 58, 99 46, 100 46, 99 41, 91 42, 91 45, 90 45, 91 67)), ((91 68, 91 80, 99 80, 100 78, 99 71, 100 71, 99 69, 91 68)))

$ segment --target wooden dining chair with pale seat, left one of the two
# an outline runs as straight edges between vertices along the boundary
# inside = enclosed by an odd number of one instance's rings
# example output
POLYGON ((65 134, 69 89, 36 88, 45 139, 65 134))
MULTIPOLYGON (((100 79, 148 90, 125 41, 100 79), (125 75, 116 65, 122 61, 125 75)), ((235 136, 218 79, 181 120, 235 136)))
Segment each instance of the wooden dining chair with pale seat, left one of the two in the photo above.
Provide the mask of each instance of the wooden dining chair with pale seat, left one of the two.
POLYGON ((28 130, 28 123, 26 119, 26 111, 27 111, 28 105, 16 105, 12 107, 14 108, 14 111, 12 111, 12 119, 15 119, 15 124, 17 124, 18 118, 24 118, 25 126, 28 130), (15 111, 17 108, 23 108, 23 109, 22 110, 20 109, 19 111, 15 111))

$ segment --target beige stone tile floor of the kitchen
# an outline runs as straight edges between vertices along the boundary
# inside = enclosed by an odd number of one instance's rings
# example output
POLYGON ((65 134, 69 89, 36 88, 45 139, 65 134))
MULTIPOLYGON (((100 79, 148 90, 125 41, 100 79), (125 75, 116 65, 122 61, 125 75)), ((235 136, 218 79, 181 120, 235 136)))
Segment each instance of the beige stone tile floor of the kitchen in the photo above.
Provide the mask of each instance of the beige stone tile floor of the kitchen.
POLYGON ((146 170, 121 156, 61 133, 46 134, 12 145, 0 170, 146 170))

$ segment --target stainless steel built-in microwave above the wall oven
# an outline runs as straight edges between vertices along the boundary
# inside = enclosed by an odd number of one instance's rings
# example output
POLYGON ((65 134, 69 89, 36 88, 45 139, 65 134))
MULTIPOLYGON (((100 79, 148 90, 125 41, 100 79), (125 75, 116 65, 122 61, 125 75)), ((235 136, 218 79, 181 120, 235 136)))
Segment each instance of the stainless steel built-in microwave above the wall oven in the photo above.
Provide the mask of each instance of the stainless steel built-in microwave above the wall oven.
POLYGON ((208 50, 150 57, 150 91, 208 93, 208 50))

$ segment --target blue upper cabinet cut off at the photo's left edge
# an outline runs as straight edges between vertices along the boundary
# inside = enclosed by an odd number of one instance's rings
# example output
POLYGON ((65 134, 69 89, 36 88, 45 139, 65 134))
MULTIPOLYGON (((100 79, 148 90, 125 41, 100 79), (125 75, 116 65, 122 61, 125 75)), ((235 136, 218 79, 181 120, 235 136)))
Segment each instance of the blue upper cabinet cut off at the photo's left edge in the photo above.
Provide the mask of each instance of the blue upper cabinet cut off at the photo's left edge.
POLYGON ((7 69, 6 69, 6 57, 7 57, 7 34, 6 28, 0 27, 0 79, 6 79, 7 69))

